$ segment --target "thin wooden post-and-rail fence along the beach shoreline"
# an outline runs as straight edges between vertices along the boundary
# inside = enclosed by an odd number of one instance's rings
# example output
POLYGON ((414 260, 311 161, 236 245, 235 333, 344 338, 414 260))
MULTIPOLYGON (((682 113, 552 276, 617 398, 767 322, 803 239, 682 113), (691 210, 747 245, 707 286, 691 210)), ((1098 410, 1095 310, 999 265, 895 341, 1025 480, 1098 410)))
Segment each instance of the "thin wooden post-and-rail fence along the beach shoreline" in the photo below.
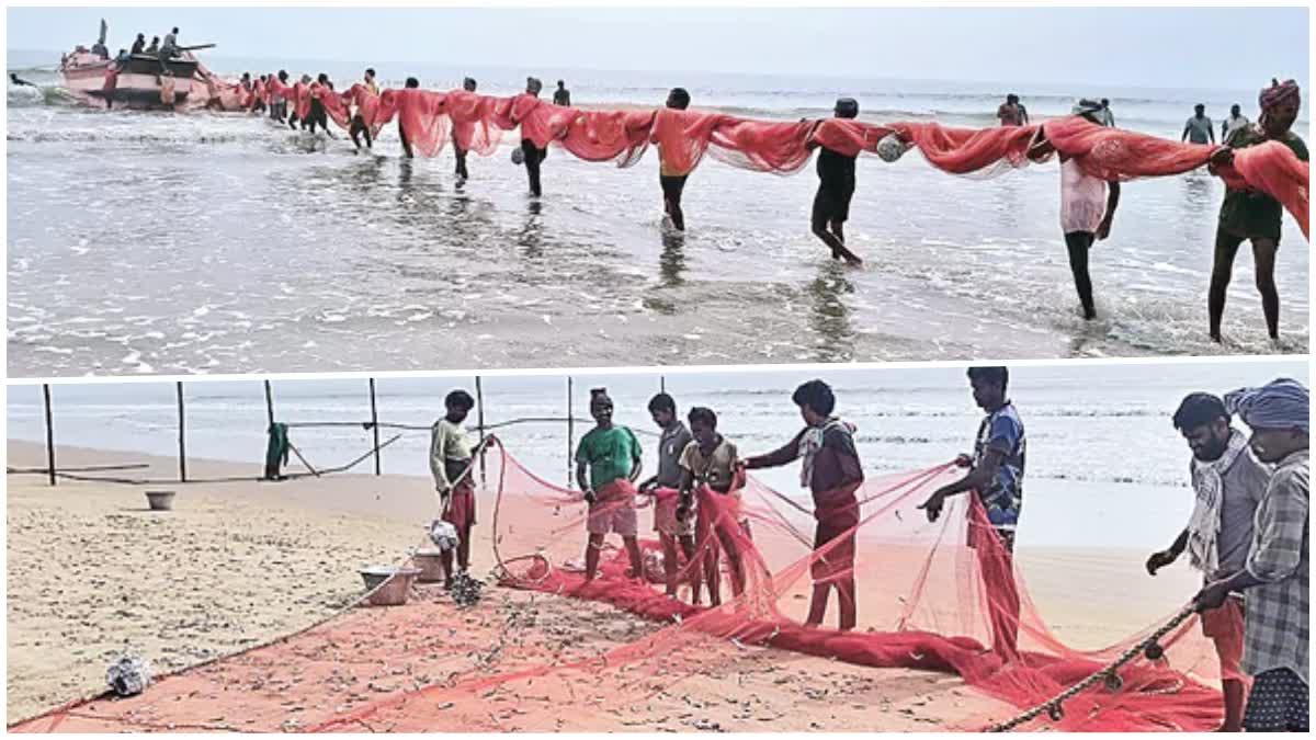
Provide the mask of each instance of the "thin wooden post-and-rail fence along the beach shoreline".
MULTIPOLYGON (((666 391, 666 378, 659 375, 657 381, 658 381, 657 390, 661 392, 666 391)), ((340 381, 340 383, 351 383, 351 382, 355 381, 340 381)), ((337 473, 349 473, 349 471, 355 471, 361 465, 370 461, 372 463, 374 474, 383 475, 384 474, 383 450, 386 448, 390 448, 399 440, 404 438, 405 436, 415 437, 424 435, 425 438, 428 440, 429 435, 432 435, 433 432, 434 420, 437 420, 438 416, 442 415, 441 411, 442 395, 446 395, 447 390, 451 390, 453 387, 465 386, 465 383, 459 382, 454 383, 451 378, 434 378, 434 379, 422 379, 412 382, 413 383, 425 382, 425 383, 433 383, 436 386, 436 388, 430 388, 430 391, 434 394, 432 396, 430 403, 411 410, 411 413, 400 415, 400 416, 411 416, 412 419, 391 420, 380 417, 380 402, 379 402, 380 391, 375 378, 367 378, 366 383, 363 383, 363 387, 361 388, 359 398, 363 402, 362 404, 363 412, 361 417, 355 419, 346 415, 341 415, 338 417, 333 416, 324 417, 325 416, 324 412, 326 410, 318 410, 318 412, 315 413, 307 412, 307 417, 297 417, 295 416, 296 413, 299 413, 297 408, 299 404, 296 403, 288 404, 291 407, 291 413, 288 416, 284 416, 283 413, 284 406, 280 403, 280 396, 275 388, 276 382, 271 382, 270 379, 261 381, 259 387, 263 402, 262 403, 263 421, 266 425, 265 429, 266 458, 265 458, 263 473, 261 475, 253 474, 253 475, 226 475, 226 477, 199 477, 193 473, 190 473, 188 469, 190 456, 195 454, 195 450, 190 450, 188 446, 190 433, 211 431, 213 435, 217 436, 229 436, 229 435, 226 432, 221 432, 217 429, 208 429, 204 421, 201 425, 196 424, 195 417, 197 416, 197 413, 188 406, 188 391, 200 388, 204 392, 207 388, 216 387, 218 383, 213 381, 197 381, 191 383, 184 383, 182 381, 178 381, 172 383, 171 388, 172 391, 171 412, 172 412, 172 425, 174 425, 172 431, 176 432, 175 444, 172 444, 171 446, 176 449, 178 471, 176 477, 168 477, 168 478, 145 477, 145 471, 151 467, 149 463, 145 462, 61 466, 57 460, 58 446, 61 444, 58 441, 59 437, 58 417, 61 407, 59 391, 61 388, 67 386, 57 384, 53 387, 51 384, 45 383, 41 386, 41 403, 42 403, 41 417, 42 417, 42 427, 43 427, 42 431, 45 437, 46 465, 41 467, 8 466, 7 473, 45 475, 49 481, 49 485, 51 486, 57 486, 61 479, 101 481, 101 482, 125 483, 125 485, 258 482, 258 481, 288 481, 288 479, 297 479, 307 477, 322 477, 337 473), (434 410, 436 406, 438 411, 434 410), (417 416, 424 416, 424 420, 416 419, 417 416), (367 435, 367 448, 361 454, 357 454, 355 457, 347 460, 343 463, 330 465, 330 466, 317 466, 308 460, 308 456, 304 452, 304 446, 299 446, 296 444, 296 440, 303 438, 301 435, 304 433, 311 433, 312 440, 315 440, 316 433, 333 433, 334 431, 363 432, 365 435, 367 435), (291 463, 293 460, 296 461, 296 465, 300 466, 300 469, 284 470, 284 466, 291 463)), ((565 386, 563 388, 565 392, 562 395, 561 406, 555 403, 550 404, 549 402, 545 400, 544 396, 537 398, 536 410, 546 410, 551 406, 553 407, 551 412, 496 419, 494 410, 497 407, 497 400, 495 399, 492 403, 490 402, 490 394, 486 390, 486 378, 476 375, 474 378, 474 383, 470 386, 474 388, 472 395, 475 398, 475 408, 472 410, 474 419, 467 417, 467 428, 474 431, 480 440, 500 431, 519 428, 519 427, 553 424, 553 425, 559 425, 559 429, 565 428, 566 449, 563 450, 565 452, 563 483, 566 487, 570 489, 575 486, 574 454, 576 442, 576 425, 584 424, 586 428, 588 428, 594 424, 594 420, 578 416, 576 413, 575 395, 578 391, 576 386, 579 384, 578 378, 567 375, 562 379, 562 382, 565 386)), ((297 384, 308 382, 286 381, 279 383, 280 384, 287 383, 287 386, 292 386, 292 388, 295 390, 297 384)), ((222 382, 222 384, 228 388, 226 392, 242 395, 249 400, 253 398, 254 388, 251 387, 250 382, 222 382), (234 386, 241 386, 241 387, 234 388, 234 386)), ((161 386, 163 386, 163 383, 161 386)), ((117 387, 122 388, 124 386, 117 386, 117 387)), ((653 386, 649 387, 651 388, 653 386)), ((417 392, 417 388, 413 387, 409 396, 415 398, 422 394, 424 390, 417 392)), ((346 394, 340 392, 332 395, 334 395, 334 398, 342 399, 343 395, 346 394)), ((494 395, 496 396, 497 394, 494 395)), ((303 400, 305 398, 307 398, 305 395, 301 395, 303 400)), ((211 403, 208 404, 207 412, 203 415, 203 419, 209 419, 213 421, 213 415, 216 413, 215 407, 217 404, 215 403, 215 396, 211 396, 209 400, 211 403)), ((76 399, 70 399, 66 400, 66 404, 78 406, 79 402, 76 399)), ((162 404, 159 402, 159 398, 154 399, 154 403, 151 403, 151 406, 154 407, 154 416, 153 419, 145 423, 145 428, 150 429, 150 432, 153 433, 158 433, 161 429, 166 428, 166 421, 162 416, 163 410, 161 408, 162 404)), ((222 407, 224 404, 220 406, 222 407)), ((509 406, 521 410, 526 408, 525 403, 509 403, 509 406)), ((305 411, 305 404, 301 404, 301 407, 303 407, 301 411, 305 411)), ((237 411, 236 410, 233 411, 234 415, 237 415, 237 411)), ((340 407, 333 411, 342 412, 342 408, 340 407)), ((224 412, 222 408, 220 412, 221 413, 224 412)), ((132 411, 124 413, 132 416, 132 411)), ((637 432, 642 435, 657 436, 655 432, 647 429, 637 429, 637 432)), ((62 444, 71 444, 71 442, 66 441, 62 444)), ((96 445, 89 444, 87 446, 96 446, 96 445)), ((155 446, 158 448, 159 445, 155 446)), ((482 450, 480 453, 482 467, 483 462, 484 461, 482 450)))

